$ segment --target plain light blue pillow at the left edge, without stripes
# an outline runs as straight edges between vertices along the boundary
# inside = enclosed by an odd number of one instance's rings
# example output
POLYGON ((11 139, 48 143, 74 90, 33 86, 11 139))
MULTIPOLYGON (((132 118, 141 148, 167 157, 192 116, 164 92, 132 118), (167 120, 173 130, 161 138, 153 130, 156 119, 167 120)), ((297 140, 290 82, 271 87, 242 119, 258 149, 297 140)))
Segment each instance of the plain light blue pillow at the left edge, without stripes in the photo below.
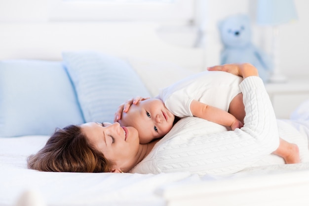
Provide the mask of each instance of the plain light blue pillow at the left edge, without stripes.
POLYGON ((0 61, 0 137, 50 135, 83 122, 62 62, 0 61))

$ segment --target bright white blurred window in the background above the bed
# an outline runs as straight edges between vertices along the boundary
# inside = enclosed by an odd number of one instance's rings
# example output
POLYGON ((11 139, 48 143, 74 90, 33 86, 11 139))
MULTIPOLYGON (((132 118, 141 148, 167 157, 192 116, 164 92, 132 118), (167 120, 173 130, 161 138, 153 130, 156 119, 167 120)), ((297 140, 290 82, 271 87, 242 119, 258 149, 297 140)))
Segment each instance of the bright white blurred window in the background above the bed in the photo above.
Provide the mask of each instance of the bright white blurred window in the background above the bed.
POLYGON ((49 0, 52 21, 187 21, 194 0, 49 0))

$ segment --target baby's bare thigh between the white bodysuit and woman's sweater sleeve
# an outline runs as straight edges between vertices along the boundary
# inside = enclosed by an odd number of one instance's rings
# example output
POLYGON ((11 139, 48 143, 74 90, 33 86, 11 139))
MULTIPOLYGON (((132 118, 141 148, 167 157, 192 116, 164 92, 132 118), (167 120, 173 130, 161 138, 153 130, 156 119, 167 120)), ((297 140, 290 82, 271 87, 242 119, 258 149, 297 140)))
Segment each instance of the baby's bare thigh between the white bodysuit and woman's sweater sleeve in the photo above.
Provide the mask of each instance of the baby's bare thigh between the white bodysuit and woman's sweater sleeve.
POLYGON ((243 119, 245 118, 246 113, 242 101, 242 93, 237 94, 232 99, 228 112, 243 124, 243 119))

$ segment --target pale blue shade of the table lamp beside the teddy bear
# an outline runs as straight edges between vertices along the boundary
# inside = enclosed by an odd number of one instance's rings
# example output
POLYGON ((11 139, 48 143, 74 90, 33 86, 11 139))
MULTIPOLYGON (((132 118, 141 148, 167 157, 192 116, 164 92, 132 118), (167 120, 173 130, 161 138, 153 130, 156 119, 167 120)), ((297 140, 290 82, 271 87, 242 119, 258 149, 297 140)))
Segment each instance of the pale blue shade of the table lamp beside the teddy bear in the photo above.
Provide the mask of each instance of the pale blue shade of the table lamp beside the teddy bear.
POLYGON ((258 0, 257 24, 279 25, 297 20, 293 0, 258 0))

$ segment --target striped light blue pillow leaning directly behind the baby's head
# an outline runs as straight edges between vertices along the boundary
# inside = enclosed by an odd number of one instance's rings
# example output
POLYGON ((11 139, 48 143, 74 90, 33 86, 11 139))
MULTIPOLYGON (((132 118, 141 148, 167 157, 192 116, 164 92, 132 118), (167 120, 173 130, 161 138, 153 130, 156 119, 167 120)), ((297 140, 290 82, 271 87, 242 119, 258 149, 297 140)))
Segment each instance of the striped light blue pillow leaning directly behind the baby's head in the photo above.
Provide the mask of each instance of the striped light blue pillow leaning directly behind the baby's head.
POLYGON ((95 51, 64 52, 86 122, 114 122, 118 106, 135 96, 150 96, 124 60, 95 51))

